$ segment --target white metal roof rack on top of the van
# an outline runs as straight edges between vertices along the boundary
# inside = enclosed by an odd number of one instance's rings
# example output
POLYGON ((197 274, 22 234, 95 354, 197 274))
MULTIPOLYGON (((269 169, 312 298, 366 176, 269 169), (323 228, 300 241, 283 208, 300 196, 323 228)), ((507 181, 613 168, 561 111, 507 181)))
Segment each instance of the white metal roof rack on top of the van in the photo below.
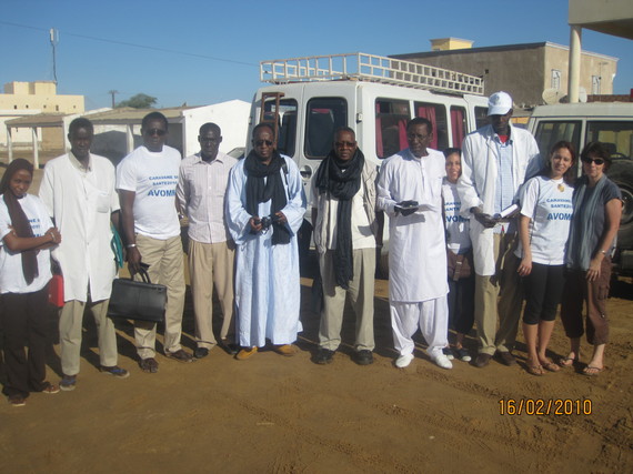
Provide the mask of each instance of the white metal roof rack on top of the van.
POLYGON ((483 79, 476 75, 362 52, 261 61, 260 80, 273 84, 360 80, 483 95, 483 79))

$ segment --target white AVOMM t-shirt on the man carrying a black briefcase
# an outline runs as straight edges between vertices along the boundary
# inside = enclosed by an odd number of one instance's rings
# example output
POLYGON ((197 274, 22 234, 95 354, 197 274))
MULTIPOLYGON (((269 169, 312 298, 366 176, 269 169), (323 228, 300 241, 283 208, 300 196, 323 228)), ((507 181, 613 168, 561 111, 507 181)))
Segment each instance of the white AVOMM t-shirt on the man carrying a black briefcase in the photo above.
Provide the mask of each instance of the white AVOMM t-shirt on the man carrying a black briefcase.
POLYGON ((175 211, 180 160, 180 152, 171 147, 163 145, 157 153, 142 145, 117 167, 117 189, 137 193, 135 233, 159 240, 180 235, 175 211))

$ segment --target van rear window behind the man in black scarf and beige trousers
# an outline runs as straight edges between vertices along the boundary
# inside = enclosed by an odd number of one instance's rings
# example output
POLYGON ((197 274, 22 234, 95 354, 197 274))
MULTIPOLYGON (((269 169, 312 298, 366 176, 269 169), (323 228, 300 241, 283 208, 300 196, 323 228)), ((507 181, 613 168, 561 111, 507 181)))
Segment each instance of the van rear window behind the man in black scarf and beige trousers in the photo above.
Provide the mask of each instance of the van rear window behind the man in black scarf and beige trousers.
POLYGON ((348 102, 341 98, 308 101, 305 110, 305 157, 323 159, 332 150, 334 130, 348 124, 348 102))

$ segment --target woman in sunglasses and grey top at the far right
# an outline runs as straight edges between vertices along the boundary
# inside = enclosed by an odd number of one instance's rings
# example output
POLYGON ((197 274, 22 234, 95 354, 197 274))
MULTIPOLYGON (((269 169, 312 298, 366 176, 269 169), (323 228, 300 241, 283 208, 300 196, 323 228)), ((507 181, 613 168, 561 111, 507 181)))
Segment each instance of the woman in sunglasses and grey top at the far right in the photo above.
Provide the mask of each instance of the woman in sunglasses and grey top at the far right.
POLYGON ((602 143, 589 143, 581 153, 581 160, 583 177, 576 183, 573 195, 574 215, 565 256, 569 275, 561 307, 571 350, 560 364, 565 367, 580 361, 584 301, 586 339, 593 345, 593 355, 583 374, 597 375, 604 370, 604 346, 609 342, 606 297, 611 254, 622 215, 622 194, 604 174, 611 164, 611 157, 602 143))

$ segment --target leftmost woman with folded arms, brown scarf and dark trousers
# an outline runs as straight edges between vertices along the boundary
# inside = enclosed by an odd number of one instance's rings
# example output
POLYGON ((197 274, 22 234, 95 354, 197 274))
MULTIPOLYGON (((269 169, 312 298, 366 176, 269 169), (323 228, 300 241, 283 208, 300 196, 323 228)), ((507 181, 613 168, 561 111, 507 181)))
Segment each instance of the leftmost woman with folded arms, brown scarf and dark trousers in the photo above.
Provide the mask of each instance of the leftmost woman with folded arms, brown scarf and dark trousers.
POLYGON ((44 379, 49 249, 61 242, 61 235, 40 199, 27 194, 32 179, 33 165, 18 159, 0 181, 0 293, 7 370, 2 393, 13 406, 23 406, 30 392, 59 392, 44 379))

